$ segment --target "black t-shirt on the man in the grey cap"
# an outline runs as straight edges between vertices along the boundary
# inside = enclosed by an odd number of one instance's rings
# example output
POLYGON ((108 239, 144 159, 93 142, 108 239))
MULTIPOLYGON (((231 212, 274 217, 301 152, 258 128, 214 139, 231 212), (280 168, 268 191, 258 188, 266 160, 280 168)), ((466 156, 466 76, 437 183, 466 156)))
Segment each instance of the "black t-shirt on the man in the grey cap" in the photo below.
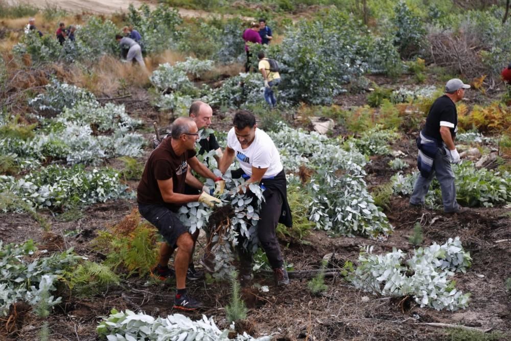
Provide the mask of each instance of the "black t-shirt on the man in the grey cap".
POLYGON ((440 126, 449 127, 451 137, 454 140, 458 131, 458 114, 456 105, 446 95, 438 97, 429 109, 426 118, 426 126, 423 133, 426 136, 438 140, 438 144, 442 144, 442 135, 440 135, 440 126))

